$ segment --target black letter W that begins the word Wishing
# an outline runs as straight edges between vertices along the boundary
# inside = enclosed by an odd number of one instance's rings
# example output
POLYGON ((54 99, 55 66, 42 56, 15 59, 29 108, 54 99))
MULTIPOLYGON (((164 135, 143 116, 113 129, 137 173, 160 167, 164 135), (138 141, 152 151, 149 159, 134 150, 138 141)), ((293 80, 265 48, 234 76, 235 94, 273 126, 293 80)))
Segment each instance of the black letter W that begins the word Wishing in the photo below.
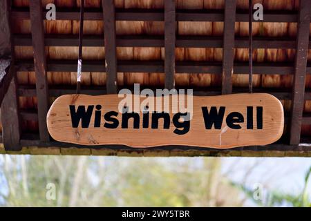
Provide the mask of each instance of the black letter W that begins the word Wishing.
POLYGON ((94 109, 94 105, 88 106, 88 110, 85 111, 85 106, 79 105, 77 108, 77 112, 75 111, 75 105, 69 105, 70 115, 71 115, 71 124, 73 128, 77 128, 79 126, 79 122, 81 119, 82 128, 88 128, 90 125, 92 112, 94 109))

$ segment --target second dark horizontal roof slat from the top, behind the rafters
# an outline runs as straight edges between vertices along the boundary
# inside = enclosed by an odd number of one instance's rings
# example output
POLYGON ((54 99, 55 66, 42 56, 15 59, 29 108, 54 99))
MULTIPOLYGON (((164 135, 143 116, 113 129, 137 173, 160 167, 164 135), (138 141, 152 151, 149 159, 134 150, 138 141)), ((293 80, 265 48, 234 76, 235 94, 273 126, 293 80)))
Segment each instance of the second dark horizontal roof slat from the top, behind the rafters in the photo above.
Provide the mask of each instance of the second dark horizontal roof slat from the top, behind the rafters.
MULTIPOLYGON (((31 35, 13 35, 15 46, 32 46, 31 35)), ((84 47, 103 47, 104 35, 86 35, 83 37, 84 47)), ((153 35, 120 35, 116 39, 117 47, 164 47, 163 36, 153 35)), ((253 48, 296 48, 296 39, 253 37, 253 48)), ((46 46, 78 46, 77 35, 46 35, 46 46)), ((223 37, 211 36, 177 36, 176 47, 180 48, 222 48, 223 37)), ((247 48, 245 37, 235 37, 234 48, 247 48)), ((309 41, 311 49, 311 41, 309 41)))

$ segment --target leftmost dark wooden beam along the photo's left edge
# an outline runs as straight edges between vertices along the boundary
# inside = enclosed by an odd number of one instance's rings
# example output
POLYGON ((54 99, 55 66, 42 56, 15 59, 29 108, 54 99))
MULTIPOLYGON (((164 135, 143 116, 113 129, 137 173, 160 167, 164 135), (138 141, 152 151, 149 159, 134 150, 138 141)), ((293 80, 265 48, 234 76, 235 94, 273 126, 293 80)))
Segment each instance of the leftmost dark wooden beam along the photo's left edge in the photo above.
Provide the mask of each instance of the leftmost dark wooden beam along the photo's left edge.
MULTIPOLYGON (((19 123, 18 102, 17 102, 17 82, 14 66, 14 50, 12 48, 12 35, 10 29, 11 1, 0 1, 0 59, 3 66, 3 76, 1 81, 1 122, 2 122, 2 142, 6 151, 20 151, 19 145, 21 137, 21 127, 19 123), (8 67, 8 64, 11 64, 8 67)), ((1 69, 1 68, 0 68, 1 69)))

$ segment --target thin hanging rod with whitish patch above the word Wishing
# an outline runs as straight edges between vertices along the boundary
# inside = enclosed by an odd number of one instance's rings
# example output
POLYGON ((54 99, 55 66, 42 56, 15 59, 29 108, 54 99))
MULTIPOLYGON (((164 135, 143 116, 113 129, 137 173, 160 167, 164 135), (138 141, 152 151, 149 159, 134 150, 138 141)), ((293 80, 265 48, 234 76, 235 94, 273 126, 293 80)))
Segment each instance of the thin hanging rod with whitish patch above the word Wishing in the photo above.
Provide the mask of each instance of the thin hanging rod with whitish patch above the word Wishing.
POLYGON ((79 27, 79 57, 77 63, 77 94, 80 93, 82 75, 82 39, 83 39, 83 20, 84 20, 84 0, 80 6, 80 27, 79 27))

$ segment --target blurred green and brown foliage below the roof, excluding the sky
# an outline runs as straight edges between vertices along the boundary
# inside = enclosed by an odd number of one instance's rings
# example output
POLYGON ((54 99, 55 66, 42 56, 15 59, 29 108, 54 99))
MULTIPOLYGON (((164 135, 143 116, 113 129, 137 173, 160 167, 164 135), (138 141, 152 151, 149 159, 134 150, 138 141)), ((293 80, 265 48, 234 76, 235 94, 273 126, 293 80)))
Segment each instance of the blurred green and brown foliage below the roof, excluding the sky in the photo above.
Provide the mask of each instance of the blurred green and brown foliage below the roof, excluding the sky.
POLYGON ((310 206, 310 171, 301 195, 269 191, 254 200, 254 190, 221 168, 218 157, 2 155, 0 206, 310 206), (55 200, 46 198, 49 183, 55 200))

